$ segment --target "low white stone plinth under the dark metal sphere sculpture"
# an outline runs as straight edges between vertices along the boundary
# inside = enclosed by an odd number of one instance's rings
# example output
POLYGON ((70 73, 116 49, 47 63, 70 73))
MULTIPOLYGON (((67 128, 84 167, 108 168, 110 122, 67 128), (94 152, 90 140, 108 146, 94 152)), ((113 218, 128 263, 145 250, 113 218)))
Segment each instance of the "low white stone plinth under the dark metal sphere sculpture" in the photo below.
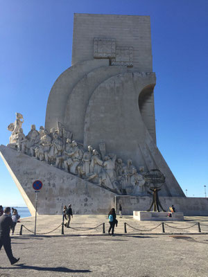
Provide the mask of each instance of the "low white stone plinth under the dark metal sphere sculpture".
POLYGON ((183 221, 183 213, 172 213, 172 217, 168 217, 168 212, 144 212, 133 211, 133 217, 139 221, 183 221))

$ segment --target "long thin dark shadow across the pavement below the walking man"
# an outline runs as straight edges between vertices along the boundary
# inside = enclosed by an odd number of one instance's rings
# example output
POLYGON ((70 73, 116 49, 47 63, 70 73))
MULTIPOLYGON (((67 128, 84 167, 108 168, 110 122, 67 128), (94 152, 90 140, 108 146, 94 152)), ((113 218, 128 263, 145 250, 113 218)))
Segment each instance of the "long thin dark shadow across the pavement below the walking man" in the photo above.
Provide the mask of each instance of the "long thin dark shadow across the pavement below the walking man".
POLYGON ((15 267, 1 267, 1 269, 32 269, 37 271, 73 272, 87 273, 92 272, 88 269, 68 269, 67 267, 33 267, 32 265, 19 264, 15 267))

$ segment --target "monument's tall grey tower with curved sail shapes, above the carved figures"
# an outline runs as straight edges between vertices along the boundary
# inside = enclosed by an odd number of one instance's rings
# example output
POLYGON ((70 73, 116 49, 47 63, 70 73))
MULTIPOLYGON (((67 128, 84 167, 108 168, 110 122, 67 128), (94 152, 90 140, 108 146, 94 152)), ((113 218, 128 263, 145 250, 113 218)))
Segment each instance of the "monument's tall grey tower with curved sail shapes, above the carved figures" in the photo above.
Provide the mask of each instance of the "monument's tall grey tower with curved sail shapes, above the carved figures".
POLYGON ((150 17, 75 14, 71 67, 49 95, 46 129, 166 175, 161 195, 184 196, 157 149, 150 17))

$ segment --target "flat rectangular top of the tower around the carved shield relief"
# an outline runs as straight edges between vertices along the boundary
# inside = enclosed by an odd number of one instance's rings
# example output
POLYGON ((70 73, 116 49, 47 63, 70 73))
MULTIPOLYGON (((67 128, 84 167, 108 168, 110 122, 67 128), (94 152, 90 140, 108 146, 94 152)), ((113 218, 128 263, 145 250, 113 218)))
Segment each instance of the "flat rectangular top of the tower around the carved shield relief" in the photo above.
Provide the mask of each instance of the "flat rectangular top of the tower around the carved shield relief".
POLYGON ((150 17, 74 14, 72 65, 94 58, 94 37, 116 39, 117 46, 132 46, 134 69, 153 71, 150 17))

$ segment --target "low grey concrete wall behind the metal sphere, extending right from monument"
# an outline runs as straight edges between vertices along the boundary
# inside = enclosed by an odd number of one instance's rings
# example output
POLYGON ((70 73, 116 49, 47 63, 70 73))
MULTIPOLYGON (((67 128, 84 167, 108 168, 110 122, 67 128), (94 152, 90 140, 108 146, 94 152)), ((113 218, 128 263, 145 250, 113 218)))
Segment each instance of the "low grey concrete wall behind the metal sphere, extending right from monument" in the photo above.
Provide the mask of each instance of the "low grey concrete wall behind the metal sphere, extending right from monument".
MULTIPOLYGON (((147 211, 153 197, 151 196, 115 196, 116 211, 119 213, 119 203, 123 208, 123 215, 133 215, 133 211, 147 211)), ((199 197, 159 197, 165 211, 174 205, 175 211, 184 215, 208 215, 208 198, 199 197)), ((152 209, 153 211, 153 209, 152 209)))

